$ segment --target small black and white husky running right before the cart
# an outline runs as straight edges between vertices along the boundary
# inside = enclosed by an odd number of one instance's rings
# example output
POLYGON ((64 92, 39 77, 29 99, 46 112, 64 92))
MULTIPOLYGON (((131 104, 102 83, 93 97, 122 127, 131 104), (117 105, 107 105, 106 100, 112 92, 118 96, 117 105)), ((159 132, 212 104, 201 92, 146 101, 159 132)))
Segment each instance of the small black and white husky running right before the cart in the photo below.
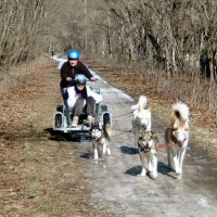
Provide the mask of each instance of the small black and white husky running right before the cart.
POLYGON ((94 161, 99 159, 99 151, 102 146, 102 156, 111 155, 108 142, 111 140, 112 127, 110 125, 100 127, 99 124, 93 124, 90 129, 90 137, 92 140, 92 146, 94 152, 94 161))

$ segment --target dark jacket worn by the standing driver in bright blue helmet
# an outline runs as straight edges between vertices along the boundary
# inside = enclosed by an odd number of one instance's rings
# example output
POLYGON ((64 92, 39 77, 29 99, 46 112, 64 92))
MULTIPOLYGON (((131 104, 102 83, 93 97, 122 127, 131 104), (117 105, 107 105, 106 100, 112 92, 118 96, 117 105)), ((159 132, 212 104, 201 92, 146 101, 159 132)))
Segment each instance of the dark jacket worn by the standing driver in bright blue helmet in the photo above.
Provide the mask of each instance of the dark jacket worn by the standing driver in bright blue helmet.
POLYGON ((77 65, 73 67, 69 62, 65 62, 61 67, 61 88, 72 87, 75 86, 74 79, 75 75, 82 74, 87 78, 93 77, 93 75, 90 73, 90 71, 85 66, 85 64, 80 61, 78 61, 77 65), (72 77, 72 81, 67 81, 66 77, 72 77))

